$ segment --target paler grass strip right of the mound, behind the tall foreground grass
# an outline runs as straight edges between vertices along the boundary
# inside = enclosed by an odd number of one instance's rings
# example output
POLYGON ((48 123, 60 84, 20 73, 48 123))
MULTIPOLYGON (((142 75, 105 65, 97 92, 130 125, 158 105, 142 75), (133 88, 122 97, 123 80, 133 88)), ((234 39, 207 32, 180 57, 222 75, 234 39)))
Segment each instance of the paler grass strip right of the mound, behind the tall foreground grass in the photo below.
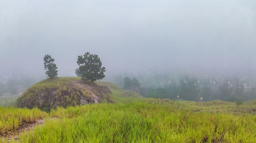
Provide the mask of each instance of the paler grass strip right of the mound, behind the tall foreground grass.
POLYGON ((238 106, 234 102, 225 102, 221 100, 214 100, 208 102, 194 102, 194 101, 172 101, 169 99, 155 99, 155 98, 141 98, 139 94, 131 91, 122 90, 117 85, 111 82, 97 82, 99 85, 107 86, 112 91, 112 101, 115 103, 130 103, 130 102, 146 102, 161 105, 168 105, 177 109, 186 109, 191 111, 205 111, 212 113, 232 113, 233 115, 240 115, 244 113, 256 114, 256 99, 244 102, 243 105, 238 106))

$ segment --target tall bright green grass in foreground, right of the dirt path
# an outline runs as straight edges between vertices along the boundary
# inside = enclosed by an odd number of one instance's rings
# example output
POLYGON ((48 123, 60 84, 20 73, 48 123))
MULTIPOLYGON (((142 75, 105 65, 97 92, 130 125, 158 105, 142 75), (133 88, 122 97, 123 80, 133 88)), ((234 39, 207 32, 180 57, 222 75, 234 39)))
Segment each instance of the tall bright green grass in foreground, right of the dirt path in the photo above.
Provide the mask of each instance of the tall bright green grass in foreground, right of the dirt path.
MULTIPOLYGON (((256 116, 193 112, 145 102, 94 104, 50 113, 20 142, 251 142, 256 116)), ((15 141, 14 141, 15 142, 15 141)))

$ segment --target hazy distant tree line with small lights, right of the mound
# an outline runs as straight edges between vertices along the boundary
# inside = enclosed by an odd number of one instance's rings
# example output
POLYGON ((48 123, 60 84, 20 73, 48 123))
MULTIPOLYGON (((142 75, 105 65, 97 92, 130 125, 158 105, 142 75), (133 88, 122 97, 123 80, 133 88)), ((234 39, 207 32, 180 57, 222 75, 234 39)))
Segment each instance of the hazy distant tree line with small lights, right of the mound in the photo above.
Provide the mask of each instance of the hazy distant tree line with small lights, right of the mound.
POLYGON ((173 100, 201 101, 202 98, 202 101, 218 99, 235 102, 256 98, 255 87, 247 85, 242 79, 238 78, 224 80, 209 80, 205 78, 199 81, 196 77, 186 75, 178 82, 174 79, 169 80, 162 87, 141 88, 133 85, 132 80, 126 77, 124 78, 123 89, 133 90, 144 97, 173 100))

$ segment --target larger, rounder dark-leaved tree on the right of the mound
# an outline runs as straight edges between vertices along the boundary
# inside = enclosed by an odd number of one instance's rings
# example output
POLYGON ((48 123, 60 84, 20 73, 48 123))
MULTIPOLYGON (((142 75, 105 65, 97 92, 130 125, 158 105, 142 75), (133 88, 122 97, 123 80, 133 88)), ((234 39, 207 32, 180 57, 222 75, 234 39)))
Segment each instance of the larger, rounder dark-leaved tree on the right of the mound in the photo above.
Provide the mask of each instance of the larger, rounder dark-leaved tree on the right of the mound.
POLYGON ((86 52, 83 55, 79 55, 77 64, 79 65, 77 73, 81 75, 82 80, 93 82, 105 77, 105 67, 101 67, 102 63, 97 54, 86 52))

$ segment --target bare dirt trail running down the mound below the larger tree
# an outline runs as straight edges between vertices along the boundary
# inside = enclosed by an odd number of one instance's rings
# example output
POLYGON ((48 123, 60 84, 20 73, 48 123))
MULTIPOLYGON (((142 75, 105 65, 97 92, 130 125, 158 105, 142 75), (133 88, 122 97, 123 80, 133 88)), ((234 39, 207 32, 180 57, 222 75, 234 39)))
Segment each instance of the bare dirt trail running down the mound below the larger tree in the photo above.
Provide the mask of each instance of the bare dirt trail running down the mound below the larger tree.
POLYGON ((98 103, 100 98, 94 93, 95 87, 88 83, 84 83, 83 81, 80 80, 70 80, 74 85, 76 85, 78 88, 84 89, 89 92, 89 94, 92 95, 92 99, 94 100, 94 103, 98 103))

